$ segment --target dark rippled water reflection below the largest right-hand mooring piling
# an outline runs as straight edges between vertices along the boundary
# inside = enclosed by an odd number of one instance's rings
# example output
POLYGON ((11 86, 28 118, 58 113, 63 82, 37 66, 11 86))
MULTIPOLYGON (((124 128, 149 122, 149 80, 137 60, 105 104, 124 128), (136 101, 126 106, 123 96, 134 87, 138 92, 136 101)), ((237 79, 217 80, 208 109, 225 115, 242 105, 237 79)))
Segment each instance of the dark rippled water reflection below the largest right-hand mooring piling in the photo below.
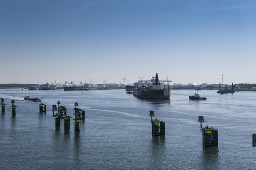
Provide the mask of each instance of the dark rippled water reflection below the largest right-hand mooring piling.
POLYGON ((218 155, 217 146, 205 148, 201 153, 201 162, 199 167, 202 170, 219 169, 218 160, 219 160, 219 155, 218 155))

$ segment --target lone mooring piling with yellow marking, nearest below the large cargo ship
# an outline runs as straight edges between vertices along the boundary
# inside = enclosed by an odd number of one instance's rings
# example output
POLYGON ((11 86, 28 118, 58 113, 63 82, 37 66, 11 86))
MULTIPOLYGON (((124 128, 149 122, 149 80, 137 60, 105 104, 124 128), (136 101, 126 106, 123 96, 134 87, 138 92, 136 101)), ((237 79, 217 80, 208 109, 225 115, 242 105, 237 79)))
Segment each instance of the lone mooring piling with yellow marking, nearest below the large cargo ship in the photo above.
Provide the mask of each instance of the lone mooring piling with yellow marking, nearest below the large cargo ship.
POLYGON ((152 136, 164 136, 165 135, 165 123, 159 119, 153 120, 152 117, 155 116, 154 111, 149 112, 152 124, 152 136))

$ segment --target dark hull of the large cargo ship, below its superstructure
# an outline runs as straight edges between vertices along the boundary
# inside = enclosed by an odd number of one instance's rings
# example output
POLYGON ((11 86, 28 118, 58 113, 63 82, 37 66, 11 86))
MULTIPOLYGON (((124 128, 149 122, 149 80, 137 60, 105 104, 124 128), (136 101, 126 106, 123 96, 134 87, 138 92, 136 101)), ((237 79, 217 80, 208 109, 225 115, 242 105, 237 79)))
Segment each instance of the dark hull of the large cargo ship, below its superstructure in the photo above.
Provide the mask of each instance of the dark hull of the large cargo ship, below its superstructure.
POLYGON ((133 90, 133 95, 140 99, 170 99, 170 91, 167 90, 133 90))

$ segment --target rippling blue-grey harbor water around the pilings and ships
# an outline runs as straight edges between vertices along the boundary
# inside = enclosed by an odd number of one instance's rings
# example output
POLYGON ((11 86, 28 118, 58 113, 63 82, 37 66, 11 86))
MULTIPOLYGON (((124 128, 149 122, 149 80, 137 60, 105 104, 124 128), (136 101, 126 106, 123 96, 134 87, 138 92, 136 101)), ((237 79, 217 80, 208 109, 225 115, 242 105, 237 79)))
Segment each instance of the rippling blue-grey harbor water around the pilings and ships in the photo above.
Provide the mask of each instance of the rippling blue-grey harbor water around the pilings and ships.
MULTIPOLYGON (((189 100, 195 90, 172 90, 170 100, 141 100, 125 90, 0 89, 0 170, 255 170, 256 92, 220 95, 199 91, 207 100, 189 100), (47 105, 39 114, 38 97, 47 105), (12 115, 11 99, 17 105, 12 115), (51 106, 71 115, 55 130, 51 106), (85 110, 74 133, 74 103, 85 110), (165 136, 152 137, 149 111, 165 122, 165 136), (218 130, 218 147, 202 148, 198 116, 218 130)), ((155 119, 155 117, 153 118, 155 119)))

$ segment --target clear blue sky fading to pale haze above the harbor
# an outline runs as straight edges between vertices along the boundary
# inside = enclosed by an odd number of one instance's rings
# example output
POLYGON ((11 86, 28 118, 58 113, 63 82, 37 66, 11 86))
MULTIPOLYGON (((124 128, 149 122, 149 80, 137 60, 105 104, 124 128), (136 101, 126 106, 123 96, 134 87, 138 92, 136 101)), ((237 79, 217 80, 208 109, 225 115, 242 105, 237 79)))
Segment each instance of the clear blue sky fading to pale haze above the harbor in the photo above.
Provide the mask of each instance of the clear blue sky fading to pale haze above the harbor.
POLYGON ((256 83, 255 0, 0 0, 0 83, 256 83))

